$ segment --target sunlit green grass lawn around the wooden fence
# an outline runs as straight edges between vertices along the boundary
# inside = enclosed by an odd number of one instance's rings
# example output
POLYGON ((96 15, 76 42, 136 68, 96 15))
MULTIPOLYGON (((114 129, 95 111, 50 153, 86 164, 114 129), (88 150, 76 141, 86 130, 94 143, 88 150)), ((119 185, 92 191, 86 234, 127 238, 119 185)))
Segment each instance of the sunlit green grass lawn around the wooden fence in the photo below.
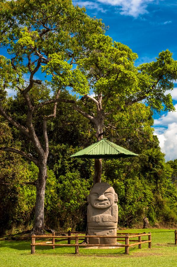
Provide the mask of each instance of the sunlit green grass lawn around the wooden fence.
MULTIPOLYGON (((129 248, 129 255, 125 255, 125 248, 119 249, 84 249, 79 248, 79 255, 75 255, 75 247, 40 247, 36 246, 34 255, 30 254, 30 241, 0 240, 0 266, 124 266, 124 267, 156 267, 177 266, 177 245, 174 245, 174 230, 169 229, 128 229, 119 232, 152 233, 152 248, 148 243, 129 248)), ((137 238, 136 238, 137 239, 137 238)), ((142 240, 147 240, 147 236, 142 240)), ((38 240, 37 240, 38 241, 38 240)))

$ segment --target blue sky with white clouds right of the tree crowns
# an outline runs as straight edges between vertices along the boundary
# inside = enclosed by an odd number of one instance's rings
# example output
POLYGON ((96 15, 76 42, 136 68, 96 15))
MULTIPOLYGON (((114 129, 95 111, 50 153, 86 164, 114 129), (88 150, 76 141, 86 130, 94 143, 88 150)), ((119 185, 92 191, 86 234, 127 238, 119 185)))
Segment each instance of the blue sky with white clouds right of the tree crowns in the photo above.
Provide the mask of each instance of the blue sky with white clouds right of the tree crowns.
MULTIPOLYGON (((86 7, 91 17, 102 18, 107 34, 128 45, 139 58, 136 66, 154 61, 169 49, 177 60, 177 1, 175 0, 88 0, 73 4, 86 7)), ((177 110, 177 82, 171 92, 177 110)), ((177 112, 154 114, 154 128, 166 160, 177 158, 177 112)))

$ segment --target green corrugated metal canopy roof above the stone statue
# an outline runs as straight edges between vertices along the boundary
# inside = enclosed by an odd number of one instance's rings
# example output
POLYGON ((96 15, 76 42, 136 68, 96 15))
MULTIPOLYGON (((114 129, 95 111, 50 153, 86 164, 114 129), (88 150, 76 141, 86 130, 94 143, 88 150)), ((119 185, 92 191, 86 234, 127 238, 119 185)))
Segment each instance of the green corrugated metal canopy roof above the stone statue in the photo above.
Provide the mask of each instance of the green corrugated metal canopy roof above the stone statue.
POLYGON ((138 154, 120 147, 107 139, 101 139, 71 155, 71 157, 75 158, 129 158, 135 156, 138 156, 138 154))

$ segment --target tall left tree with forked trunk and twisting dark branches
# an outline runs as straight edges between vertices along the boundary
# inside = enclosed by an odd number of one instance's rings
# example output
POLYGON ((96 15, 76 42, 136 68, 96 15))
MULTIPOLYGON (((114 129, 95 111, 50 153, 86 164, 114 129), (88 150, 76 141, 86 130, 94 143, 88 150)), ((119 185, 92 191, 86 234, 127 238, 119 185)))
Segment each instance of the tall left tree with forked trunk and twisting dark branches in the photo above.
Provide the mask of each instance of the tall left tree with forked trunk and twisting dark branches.
POLYGON ((73 100, 59 98, 65 88, 65 73, 75 63, 75 58, 88 53, 89 35, 103 32, 104 25, 101 20, 89 18, 85 9, 74 7, 70 0, 1 0, 0 3, 0 44, 6 48, 2 51, 9 54, 8 57, 0 55, 0 114, 31 144, 27 151, 17 147, 0 147, 0 150, 17 153, 38 166, 38 179, 28 184, 36 186, 33 232, 42 233, 49 155, 47 122, 56 116, 58 102, 73 103, 73 100), (39 98, 34 101, 35 92, 48 91, 41 80, 41 68, 50 62, 51 54, 59 55, 55 57, 55 64, 60 71, 57 77, 52 73, 53 79, 58 81, 57 88, 52 88, 53 96, 36 93, 39 98), (17 97, 24 99, 21 119, 16 120, 18 116, 7 112, 6 92, 10 89, 18 91, 17 97), (45 109, 49 104, 53 104, 51 114, 45 109), (42 136, 36 134, 33 123, 38 110, 43 114, 42 136))

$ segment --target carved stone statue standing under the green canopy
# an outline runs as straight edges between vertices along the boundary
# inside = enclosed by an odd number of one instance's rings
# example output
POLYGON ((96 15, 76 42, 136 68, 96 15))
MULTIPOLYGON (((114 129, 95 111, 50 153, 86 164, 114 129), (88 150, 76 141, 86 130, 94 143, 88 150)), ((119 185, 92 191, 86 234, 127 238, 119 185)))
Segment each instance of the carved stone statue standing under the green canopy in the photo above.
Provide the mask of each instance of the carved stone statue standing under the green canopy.
MULTIPOLYGON (((87 197, 89 236, 116 236, 118 195, 108 183, 96 183, 87 197)), ((89 238, 89 244, 116 244, 116 238, 89 238)))

